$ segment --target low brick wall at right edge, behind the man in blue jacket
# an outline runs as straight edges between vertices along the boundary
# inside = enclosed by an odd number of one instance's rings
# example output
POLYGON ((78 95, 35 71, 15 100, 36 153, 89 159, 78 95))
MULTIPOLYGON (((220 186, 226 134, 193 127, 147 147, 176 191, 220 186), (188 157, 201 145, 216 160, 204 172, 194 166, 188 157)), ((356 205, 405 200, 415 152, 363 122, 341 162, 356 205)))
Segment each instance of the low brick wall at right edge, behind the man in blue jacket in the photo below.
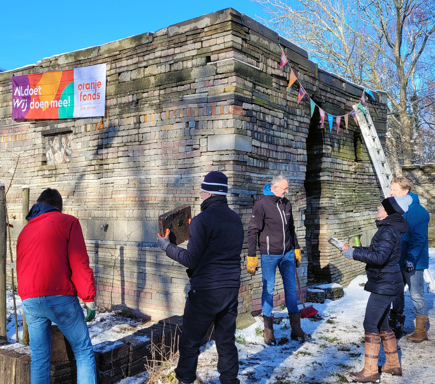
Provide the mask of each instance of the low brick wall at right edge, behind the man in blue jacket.
POLYGON ((435 164, 403 165, 403 176, 411 182, 412 192, 429 212, 429 247, 435 247, 435 164))

